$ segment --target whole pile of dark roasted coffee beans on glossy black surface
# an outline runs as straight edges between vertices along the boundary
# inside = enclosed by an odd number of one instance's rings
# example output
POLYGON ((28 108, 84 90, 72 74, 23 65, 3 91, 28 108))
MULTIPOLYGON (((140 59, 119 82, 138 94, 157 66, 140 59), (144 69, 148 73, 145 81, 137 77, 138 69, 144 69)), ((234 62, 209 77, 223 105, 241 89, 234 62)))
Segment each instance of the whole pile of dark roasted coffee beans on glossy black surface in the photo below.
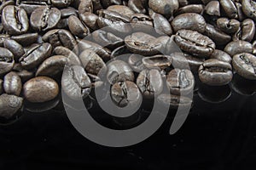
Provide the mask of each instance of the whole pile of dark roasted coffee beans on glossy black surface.
POLYGON ((25 103, 45 107, 61 90, 86 99, 108 83, 106 93, 119 107, 157 99, 175 108, 191 105, 196 77, 214 87, 230 84, 235 74, 256 80, 253 0, 0 4, 0 116, 6 119, 25 103))

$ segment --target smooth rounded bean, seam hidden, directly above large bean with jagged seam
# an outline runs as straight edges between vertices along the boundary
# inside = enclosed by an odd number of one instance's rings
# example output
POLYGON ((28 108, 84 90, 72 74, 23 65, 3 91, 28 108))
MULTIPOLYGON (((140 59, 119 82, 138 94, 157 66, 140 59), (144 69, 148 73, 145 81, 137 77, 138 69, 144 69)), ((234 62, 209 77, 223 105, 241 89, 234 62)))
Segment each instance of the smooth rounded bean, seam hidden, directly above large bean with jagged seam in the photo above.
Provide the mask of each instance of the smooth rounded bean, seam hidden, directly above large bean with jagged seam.
POLYGON ((203 33, 206 30, 206 20, 195 13, 180 14, 172 20, 173 31, 193 30, 203 33))

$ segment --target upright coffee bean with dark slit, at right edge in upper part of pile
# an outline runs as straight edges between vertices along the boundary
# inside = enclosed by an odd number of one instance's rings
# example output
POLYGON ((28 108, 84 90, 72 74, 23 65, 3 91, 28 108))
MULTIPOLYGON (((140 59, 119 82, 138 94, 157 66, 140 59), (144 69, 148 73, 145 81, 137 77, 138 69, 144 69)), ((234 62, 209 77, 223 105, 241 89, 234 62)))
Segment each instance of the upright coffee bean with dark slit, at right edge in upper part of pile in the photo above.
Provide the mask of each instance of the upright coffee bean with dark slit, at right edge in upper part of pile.
POLYGON ((243 40, 251 42, 255 35, 255 24, 251 19, 243 20, 241 23, 241 28, 236 31, 233 36, 233 41, 243 40))

